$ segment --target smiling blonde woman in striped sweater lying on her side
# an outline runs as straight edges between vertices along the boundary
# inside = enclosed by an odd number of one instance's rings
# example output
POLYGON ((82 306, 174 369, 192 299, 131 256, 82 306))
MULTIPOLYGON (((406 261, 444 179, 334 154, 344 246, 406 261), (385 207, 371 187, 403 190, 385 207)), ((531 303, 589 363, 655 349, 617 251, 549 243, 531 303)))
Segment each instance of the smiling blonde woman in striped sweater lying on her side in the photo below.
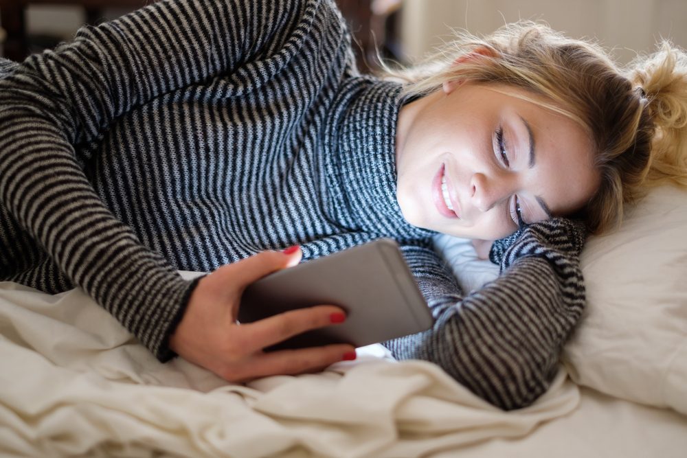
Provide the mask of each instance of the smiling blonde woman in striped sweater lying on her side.
POLYGON ((385 345, 503 409, 530 404, 585 303, 585 229, 561 216, 600 231, 640 186, 685 183, 684 54, 625 75, 513 25, 412 84, 353 62, 333 1, 173 0, 5 63, 0 278, 79 286, 159 360, 238 381, 355 356, 262 352, 345 317, 324 304, 238 325, 247 284, 392 237, 436 323, 385 345), (515 235, 492 251, 502 275, 464 296, 434 231, 515 235))

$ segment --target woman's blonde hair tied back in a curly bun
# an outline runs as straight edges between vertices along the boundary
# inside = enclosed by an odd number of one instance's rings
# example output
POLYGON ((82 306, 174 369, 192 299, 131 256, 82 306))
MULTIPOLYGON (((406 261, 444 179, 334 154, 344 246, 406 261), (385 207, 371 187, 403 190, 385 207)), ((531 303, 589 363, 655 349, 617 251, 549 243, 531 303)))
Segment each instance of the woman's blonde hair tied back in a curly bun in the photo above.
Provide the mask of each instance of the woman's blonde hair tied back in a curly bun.
POLYGON ((453 80, 510 84, 583 126, 601 183, 577 216, 594 233, 616 227, 650 187, 687 187, 687 56, 667 41, 623 68, 596 43, 522 21, 484 38, 457 34, 425 64, 386 70, 408 83, 406 95, 453 80))

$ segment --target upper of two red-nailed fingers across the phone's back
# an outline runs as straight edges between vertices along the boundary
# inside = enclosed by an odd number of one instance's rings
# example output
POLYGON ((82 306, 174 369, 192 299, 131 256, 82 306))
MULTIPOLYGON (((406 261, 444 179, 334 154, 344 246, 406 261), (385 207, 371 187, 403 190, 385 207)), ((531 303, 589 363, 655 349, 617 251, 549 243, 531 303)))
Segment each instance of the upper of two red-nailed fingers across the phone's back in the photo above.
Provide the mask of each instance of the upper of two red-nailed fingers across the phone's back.
POLYGON ((254 347, 249 350, 256 351, 302 332, 343 323, 345 319, 346 314, 339 307, 315 306, 289 310, 254 323, 243 324, 241 331, 250 333, 254 347))

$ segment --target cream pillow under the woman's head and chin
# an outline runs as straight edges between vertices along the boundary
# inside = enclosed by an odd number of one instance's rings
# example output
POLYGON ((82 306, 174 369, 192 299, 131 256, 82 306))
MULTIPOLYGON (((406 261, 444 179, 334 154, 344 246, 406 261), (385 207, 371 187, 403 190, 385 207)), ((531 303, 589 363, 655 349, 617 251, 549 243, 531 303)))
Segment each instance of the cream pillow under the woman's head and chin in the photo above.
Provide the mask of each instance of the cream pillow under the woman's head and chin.
MULTIPOLYGON (((469 240, 436 236, 465 291, 497 274, 469 240)), ((572 379, 687 414, 687 192, 653 190, 581 257, 587 309, 563 352, 572 379)))

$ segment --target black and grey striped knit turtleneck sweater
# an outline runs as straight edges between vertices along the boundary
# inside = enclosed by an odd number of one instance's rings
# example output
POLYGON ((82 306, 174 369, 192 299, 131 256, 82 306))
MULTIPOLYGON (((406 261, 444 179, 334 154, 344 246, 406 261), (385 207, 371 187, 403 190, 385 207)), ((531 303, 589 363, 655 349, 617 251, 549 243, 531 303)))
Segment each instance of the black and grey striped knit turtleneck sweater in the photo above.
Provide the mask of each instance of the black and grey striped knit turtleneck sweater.
POLYGON ((385 343, 515 409, 584 305, 582 238, 528 227, 467 297, 396 202, 404 100, 360 76, 333 1, 163 1, 0 67, 0 279, 79 286, 157 358, 194 283, 264 249, 401 244, 436 323, 385 343))

